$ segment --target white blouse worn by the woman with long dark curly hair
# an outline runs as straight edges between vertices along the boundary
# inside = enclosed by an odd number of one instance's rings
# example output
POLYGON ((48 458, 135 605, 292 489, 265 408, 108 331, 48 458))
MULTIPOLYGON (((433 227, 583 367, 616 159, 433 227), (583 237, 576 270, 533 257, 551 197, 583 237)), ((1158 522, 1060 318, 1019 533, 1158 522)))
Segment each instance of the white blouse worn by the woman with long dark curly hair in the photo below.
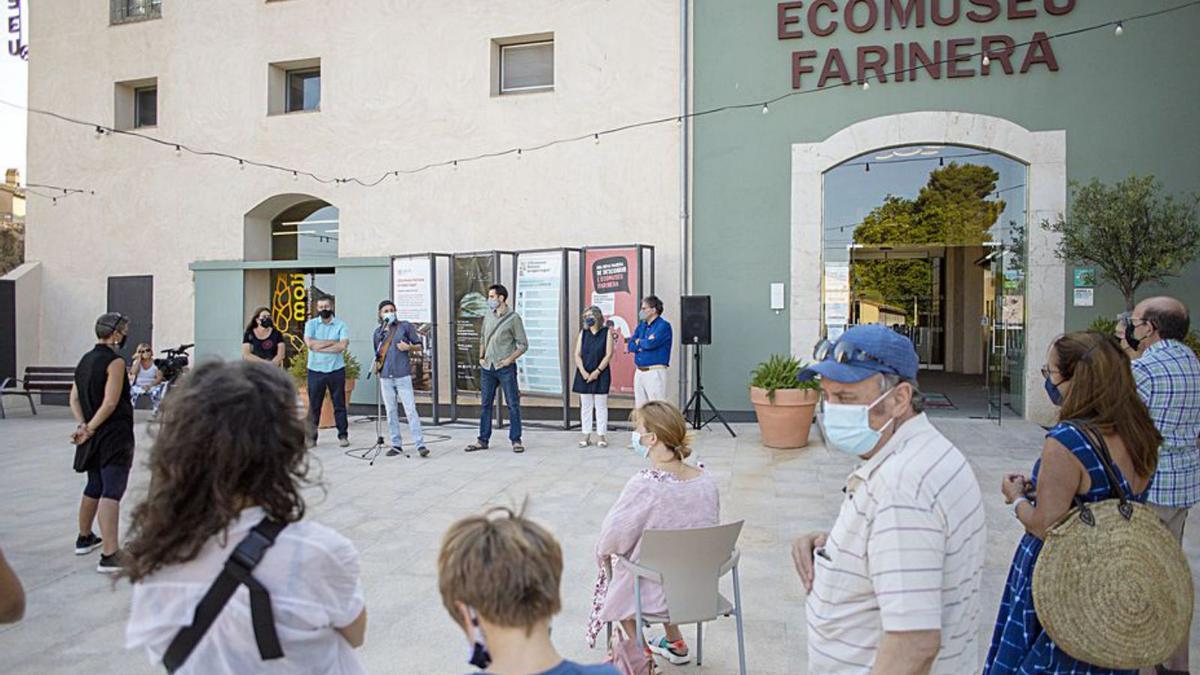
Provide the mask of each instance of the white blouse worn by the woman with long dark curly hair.
MULTIPOLYGON (((229 554, 262 519, 262 508, 242 510, 228 536, 209 539, 194 560, 134 584, 125 647, 143 647, 150 662, 161 665, 229 554)), ((293 522, 280 532, 253 574, 271 595, 283 658, 264 662, 259 657, 250 591, 239 586, 179 675, 365 673, 354 649, 335 631, 353 623, 364 608, 359 552, 349 539, 317 522, 293 522)))

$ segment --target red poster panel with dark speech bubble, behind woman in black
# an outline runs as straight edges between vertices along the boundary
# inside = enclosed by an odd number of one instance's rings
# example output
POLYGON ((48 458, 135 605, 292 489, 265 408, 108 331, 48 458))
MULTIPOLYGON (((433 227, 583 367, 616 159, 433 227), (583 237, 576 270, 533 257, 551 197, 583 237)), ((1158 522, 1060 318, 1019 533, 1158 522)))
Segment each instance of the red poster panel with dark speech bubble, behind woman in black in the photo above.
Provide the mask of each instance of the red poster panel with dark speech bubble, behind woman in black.
POLYGON ((583 305, 595 305, 604 312, 608 328, 620 334, 613 346, 612 387, 610 393, 634 394, 634 354, 629 353, 625 339, 637 327, 637 310, 642 299, 637 297, 640 274, 636 247, 589 249, 583 252, 583 305))

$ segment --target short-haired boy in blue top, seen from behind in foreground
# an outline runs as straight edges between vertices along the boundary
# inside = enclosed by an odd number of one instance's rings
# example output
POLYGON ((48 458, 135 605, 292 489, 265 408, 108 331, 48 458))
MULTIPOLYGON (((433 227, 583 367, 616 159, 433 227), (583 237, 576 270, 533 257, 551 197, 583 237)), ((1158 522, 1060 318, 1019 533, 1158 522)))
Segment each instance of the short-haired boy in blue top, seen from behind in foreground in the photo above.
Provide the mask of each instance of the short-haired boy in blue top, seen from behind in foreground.
POLYGON ((550 641, 563 608, 563 549, 521 513, 498 507, 446 530, 438 590, 467 634, 469 663, 493 675, 618 675, 608 664, 564 659, 550 641))

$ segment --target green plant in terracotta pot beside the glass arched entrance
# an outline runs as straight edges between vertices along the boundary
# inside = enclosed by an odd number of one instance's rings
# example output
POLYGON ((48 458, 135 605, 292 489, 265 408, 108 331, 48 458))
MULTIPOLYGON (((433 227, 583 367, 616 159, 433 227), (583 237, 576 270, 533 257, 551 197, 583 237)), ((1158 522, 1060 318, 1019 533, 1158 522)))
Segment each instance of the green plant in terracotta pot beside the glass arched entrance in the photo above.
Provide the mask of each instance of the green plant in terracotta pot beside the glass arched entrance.
POLYGON ((816 378, 800 382, 800 360, 772 354, 751 375, 750 402, 758 417, 762 444, 768 448, 803 448, 821 395, 816 378))

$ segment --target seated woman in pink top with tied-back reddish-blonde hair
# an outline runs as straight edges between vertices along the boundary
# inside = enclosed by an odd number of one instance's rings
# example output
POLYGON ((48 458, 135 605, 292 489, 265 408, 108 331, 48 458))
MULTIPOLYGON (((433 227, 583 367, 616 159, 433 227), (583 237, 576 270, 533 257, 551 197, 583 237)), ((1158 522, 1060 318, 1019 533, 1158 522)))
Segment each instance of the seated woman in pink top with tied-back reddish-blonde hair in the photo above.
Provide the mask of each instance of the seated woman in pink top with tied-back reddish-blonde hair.
MULTIPOLYGON (((666 401, 650 401, 634 412, 634 424, 635 452, 648 459, 650 466, 625 483, 604 519, 596 543, 601 571, 613 555, 637 562, 646 530, 709 527, 720 520, 716 482, 707 471, 683 461, 691 448, 688 423, 679 410, 666 401)), ((662 586, 643 579, 641 589, 642 613, 666 614, 662 586)), ((601 572, 588 643, 595 644, 600 626, 608 621, 620 621, 626 635, 636 635, 635 610, 634 575, 619 565, 613 566, 612 579, 604 579, 601 572)), ((647 637, 650 651, 674 664, 691 661, 679 628, 671 623, 665 628, 662 638, 647 637)))

